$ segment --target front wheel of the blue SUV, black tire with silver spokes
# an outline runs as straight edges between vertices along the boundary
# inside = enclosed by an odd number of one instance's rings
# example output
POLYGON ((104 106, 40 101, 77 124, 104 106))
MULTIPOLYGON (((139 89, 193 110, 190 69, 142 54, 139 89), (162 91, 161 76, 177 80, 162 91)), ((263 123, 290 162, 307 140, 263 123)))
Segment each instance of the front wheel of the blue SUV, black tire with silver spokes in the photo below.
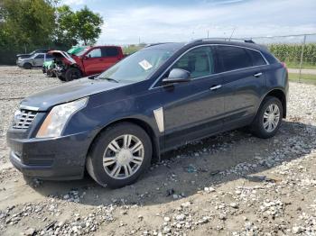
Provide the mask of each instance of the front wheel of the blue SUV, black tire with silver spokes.
POLYGON ((117 123, 107 128, 106 131, 101 132, 96 141, 93 142, 86 164, 88 174, 101 186, 109 186, 111 188, 128 186, 135 183, 138 177, 149 168, 152 153, 151 139, 141 127, 133 123, 117 123), (125 149, 123 146, 123 137, 127 134, 130 137, 130 145, 128 146, 130 149, 125 149), (117 147, 116 145, 110 145, 113 141, 116 141, 116 144, 121 148, 120 150, 116 149, 119 150, 118 152, 113 151, 113 147, 117 147), (136 143, 139 144, 138 141, 141 141, 143 146, 136 145, 136 143), (132 153, 130 150, 133 148, 140 150, 132 153), (130 153, 134 155, 130 156, 130 153), (107 155, 108 158, 104 158, 104 155, 107 155), (143 157, 143 159, 140 161, 140 158, 138 158, 138 164, 135 164, 129 159, 134 156, 143 157), (107 162, 104 162, 104 159, 107 159, 107 162), (124 163, 128 163, 130 168, 127 168, 124 163), (111 173, 114 174, 111 175, 111 173))

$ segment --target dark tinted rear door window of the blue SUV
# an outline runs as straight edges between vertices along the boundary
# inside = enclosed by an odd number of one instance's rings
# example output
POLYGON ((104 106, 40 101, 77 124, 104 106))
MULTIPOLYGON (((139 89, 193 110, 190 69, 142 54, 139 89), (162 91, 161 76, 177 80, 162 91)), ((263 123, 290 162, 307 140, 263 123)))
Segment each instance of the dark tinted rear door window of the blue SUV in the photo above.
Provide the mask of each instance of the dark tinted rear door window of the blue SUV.
POLYGON ((218 58, 222 65, 221 71, 249 68, 253 66, 250 55, 248 55, 243 48, 218 46, 218 58))

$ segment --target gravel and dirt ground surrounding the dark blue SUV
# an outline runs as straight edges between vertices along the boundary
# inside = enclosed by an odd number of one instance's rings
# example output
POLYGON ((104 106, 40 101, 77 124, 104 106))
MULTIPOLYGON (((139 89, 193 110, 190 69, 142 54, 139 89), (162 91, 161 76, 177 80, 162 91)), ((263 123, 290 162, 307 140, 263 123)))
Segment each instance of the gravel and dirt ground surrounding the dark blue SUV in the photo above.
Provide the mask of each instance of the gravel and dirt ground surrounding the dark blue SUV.
POLYGON ((226 132, 166 153, 135 185, 24 179, 5 131, 21 98, 60 82, 0 67, 0 235, 316 235, 316 86, 290 84, 273 139, 226 132))

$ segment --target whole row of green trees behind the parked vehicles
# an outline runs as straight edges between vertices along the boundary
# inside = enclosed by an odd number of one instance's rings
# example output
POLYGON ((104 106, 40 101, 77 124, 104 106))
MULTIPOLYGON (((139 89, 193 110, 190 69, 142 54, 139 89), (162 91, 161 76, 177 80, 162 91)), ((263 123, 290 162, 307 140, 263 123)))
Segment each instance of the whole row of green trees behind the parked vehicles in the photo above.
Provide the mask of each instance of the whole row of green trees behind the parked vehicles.
POLYGON ((93 44, 102 24, 87 6, 72 11, 60 0, 0 0, 0 63, 24 50, 93 44))

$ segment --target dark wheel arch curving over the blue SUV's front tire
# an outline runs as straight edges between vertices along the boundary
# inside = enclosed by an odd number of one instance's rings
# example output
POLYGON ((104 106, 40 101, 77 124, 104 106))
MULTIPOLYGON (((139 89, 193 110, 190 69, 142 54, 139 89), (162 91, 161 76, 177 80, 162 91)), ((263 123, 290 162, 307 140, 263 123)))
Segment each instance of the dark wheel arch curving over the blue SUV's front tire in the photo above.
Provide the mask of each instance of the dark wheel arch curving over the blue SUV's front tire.
POLYGON ((141 127, 144 130, 144 132, 146 132, 148 134, 150 140, 152 141, 153 161, 160 161, 160 143, 159 143, 159 138, 157 137, 157 135, 153 131, 153 127, 149 123, 147 123, 144 120, 139 119, 139 118, 123 118, 123 119, 116 120, 116 121, 111 122, 111 123, 107 123, 106 126, 104 126, 102 129, 100 129, 98 131, 98 133, 95 135, 95 137, 93 138, 93 140, 91 141, 91 143, 89 145, 88 153, 86 155, 86 162, 87 162, 88 155, 91 152, 95 141, 98 140, 98 136, 102 132, 105 132, 107 130, 107 128, 109 128, 110 126, 113 126, 113 125, 115 125, 117 123, 133 123, 133 124, 141 127))

